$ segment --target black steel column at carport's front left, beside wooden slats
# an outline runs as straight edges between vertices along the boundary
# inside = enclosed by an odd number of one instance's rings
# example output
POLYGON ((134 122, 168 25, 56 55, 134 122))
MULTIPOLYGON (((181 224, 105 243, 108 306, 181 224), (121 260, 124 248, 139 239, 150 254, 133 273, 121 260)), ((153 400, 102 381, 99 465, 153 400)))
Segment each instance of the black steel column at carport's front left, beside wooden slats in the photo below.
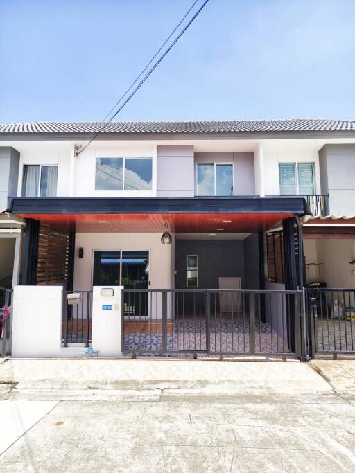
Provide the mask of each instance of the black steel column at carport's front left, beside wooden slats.
POLYGON ((24 253, 22 256, 21 284, 31 286, 37 284, 38 240, 40 238, 40 222, 28 218, 26 220, 24 253))

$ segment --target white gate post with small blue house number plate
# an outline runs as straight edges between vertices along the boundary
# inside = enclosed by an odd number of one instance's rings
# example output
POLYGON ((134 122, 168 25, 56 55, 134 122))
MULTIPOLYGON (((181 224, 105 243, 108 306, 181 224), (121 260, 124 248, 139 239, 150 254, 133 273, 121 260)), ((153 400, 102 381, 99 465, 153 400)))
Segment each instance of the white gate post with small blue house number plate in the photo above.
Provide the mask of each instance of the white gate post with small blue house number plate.
POLYGON ((92 288, 92 349, 102 357, 121 355, 121 290, 123 286, 92 288))

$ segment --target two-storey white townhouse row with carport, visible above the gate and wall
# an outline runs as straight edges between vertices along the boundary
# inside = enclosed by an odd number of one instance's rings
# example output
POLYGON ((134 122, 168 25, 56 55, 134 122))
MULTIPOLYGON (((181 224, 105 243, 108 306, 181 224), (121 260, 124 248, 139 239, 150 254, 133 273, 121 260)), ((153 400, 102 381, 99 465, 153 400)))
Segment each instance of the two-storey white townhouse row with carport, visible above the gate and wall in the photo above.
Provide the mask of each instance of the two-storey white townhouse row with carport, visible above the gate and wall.
POLYGON ((18 159, 2 221, 22 232, 21 284, 354 287, 355 122, 110 123, 85 148, 100 126, 0 125, 18 159))

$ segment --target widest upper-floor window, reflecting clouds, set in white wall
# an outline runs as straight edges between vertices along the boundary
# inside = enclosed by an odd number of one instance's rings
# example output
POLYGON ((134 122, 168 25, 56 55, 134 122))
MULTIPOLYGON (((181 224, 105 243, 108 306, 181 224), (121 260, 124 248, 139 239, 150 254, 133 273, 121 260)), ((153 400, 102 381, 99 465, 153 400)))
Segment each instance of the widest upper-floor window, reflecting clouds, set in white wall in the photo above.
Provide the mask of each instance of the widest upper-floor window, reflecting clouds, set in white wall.
POLYGON ((95 190, 151 188, 151 158, 96 158, 95 190))

